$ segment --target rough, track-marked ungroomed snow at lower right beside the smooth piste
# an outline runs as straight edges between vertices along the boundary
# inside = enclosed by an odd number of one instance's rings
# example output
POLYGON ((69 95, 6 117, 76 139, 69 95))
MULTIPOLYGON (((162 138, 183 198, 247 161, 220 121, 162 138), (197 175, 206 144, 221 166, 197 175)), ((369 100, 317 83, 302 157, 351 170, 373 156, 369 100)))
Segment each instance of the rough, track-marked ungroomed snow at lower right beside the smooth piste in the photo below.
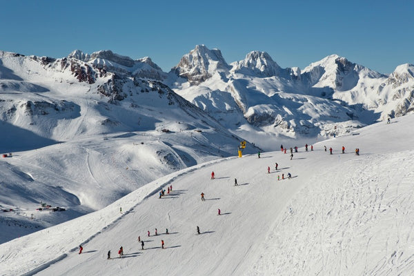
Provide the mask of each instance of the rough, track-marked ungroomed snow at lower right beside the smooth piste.
MULTIPOLYGON (((279 217, 254 270, 274 275, 397 275, 414 269, 413 152, 370 155, 308 180, 279 217), (404 164, 395 167, 394 164, 404 164), (312 204, 311 204, 312 203, 312 204), (270 245, 269 245, 270 244, 270 245), (272 247, 273 250, 268 250, 272 247), (294 272, 294 273, 293 273, 294 272), (293 273, 293 274, 291 274, 293 273)), ((252 273, 252 274, 255 274, 252 273)))

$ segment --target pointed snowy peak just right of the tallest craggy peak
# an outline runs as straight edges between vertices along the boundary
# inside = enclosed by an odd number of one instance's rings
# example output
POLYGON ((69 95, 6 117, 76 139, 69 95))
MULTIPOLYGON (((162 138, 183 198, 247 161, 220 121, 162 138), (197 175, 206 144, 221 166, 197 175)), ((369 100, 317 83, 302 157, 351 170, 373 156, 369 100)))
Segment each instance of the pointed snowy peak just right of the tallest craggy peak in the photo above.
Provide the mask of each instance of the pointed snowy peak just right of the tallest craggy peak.
POLYGON ((272 77, 279 73, 280 66, 273 61, 267 52, 252 51, 242 61, 232 63, 234 72, 260 77, 272 77))

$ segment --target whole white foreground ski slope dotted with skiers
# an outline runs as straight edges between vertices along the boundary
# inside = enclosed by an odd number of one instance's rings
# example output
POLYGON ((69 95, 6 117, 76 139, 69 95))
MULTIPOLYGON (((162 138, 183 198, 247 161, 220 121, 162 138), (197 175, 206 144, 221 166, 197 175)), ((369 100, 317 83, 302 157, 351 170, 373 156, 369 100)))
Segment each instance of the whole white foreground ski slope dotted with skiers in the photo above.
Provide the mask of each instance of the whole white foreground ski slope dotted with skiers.
POLYGON ((278 150, 174 172, 1 244, 0 274, 414 275, 413 125, 410 115, 367 126, 300 146, 293 160, 278 150))

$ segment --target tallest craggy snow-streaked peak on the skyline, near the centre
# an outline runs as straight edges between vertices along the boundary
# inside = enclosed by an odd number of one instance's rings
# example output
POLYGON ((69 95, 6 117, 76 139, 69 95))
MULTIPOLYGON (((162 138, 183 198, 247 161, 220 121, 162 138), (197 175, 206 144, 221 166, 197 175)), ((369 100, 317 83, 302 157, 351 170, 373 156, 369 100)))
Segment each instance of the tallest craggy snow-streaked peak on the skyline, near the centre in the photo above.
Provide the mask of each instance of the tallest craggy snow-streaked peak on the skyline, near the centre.
POLYGON ((210 50, 204 45, 195 46, 194 50, 184 55, 177 66, 172 68, 179 77, 188 79, 192 84, 209 79, 214 72, 226 72, 229 69, 230 66, 224 60, 220 50, 210 50))

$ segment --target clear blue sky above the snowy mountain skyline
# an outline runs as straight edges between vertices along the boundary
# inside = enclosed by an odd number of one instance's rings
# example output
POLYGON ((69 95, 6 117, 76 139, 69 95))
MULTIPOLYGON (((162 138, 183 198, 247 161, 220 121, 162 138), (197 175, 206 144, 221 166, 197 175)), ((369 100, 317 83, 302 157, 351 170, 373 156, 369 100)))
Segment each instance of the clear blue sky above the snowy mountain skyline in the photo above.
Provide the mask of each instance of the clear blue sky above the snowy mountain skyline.
POLYGON ((414 63, 414 1, 0 0, 0 50, 66 57, 112 50, 164 71, 197 44, 228 63, 266 51, 303 69, 337 54, 389 74, 414 63))

